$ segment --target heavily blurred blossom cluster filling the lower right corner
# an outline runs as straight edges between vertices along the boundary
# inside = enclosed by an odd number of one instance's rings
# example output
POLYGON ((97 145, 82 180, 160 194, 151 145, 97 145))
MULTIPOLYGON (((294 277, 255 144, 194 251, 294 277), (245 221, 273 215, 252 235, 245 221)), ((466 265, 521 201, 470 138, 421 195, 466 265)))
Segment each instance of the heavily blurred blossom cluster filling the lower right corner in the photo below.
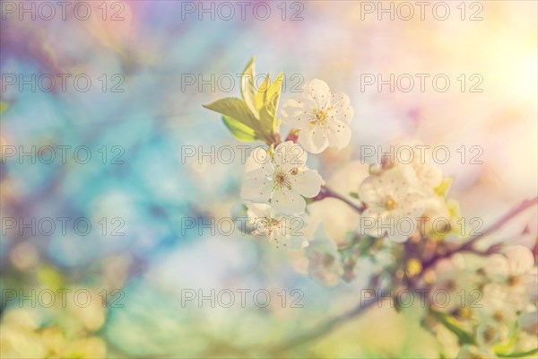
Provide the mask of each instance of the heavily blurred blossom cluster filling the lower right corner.
MULTIPOLYGON (((514 355, 533 351, 538 345, 538 268, 533 252, 523 246, 508 247, 505 254, 486 258, 453 256, 438 262, 430 293, 444 291, 453 300, 430 302, 441 323, 447 320, 461 346, 447 346, 448 356, 458 358, 514 355), (473 260, 474 259, 474 260, 473 260), (508 355, 510 354, 510 355, 508 355), (482 356, 477 356, 482 355, 482 356)), ((441 343, 450 335, 439 326, 441 343)))

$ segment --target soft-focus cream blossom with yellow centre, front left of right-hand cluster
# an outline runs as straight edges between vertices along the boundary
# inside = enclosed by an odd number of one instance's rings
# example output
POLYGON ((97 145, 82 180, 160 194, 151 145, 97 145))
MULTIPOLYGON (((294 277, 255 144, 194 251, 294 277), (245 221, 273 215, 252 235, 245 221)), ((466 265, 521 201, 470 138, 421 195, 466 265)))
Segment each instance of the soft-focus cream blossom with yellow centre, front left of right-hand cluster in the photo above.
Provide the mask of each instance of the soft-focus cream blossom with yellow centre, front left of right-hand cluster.
POLYGON ((359 188, 359 197, 367 209, 360 216, 360 234, 377 238, 387 236, 396 242, 407 241, 423 212, 421 196, 411 189, 398 167, 364 180, 359 188))

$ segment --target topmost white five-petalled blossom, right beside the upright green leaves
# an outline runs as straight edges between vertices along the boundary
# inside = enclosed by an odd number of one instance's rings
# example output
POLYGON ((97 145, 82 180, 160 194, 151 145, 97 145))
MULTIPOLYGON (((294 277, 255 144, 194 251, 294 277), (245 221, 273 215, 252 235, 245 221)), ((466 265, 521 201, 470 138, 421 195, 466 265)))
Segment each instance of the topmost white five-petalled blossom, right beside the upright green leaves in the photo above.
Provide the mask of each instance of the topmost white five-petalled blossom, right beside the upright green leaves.
POLYGON ((353 118, 351 101, 345 93, 332 94, 321 80, 303 87, 303 96, 284 103, 282 121, 299 128, 299 144, 310 153, 321 153, 327 147, 339 150, 350 143, 353 118))

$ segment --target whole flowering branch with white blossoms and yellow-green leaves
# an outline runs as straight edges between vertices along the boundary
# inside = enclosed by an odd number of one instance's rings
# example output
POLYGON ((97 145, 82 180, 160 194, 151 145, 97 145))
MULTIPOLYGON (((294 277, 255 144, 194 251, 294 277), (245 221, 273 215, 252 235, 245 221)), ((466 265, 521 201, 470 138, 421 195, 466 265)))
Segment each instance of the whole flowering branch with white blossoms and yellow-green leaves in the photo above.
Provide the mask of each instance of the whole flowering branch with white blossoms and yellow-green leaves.
POLYGON ((457 202, 447 198, 452 180, 432 164, 433 153, 418 151, 428 146, 396 145, 380 164, 354 163, 325 183, 308 168, 308 154, 350 143, 350 98, 312 80, 283 104, 279 118, 282 74, 273 82, 267 75, 259 89, 254 75, 253 58, 242 78, 242 99, 204 105, 222 115, 239 141, 265 143, 245 166, 240 194, 246 210, 238 206, 247 215, 245 232, 277 247, 304 249, 308 268, 302 260, 298 266, 324 285, 368 277, 369 286, 390 290, 399 310, 407 306, 393 289, 426 290, 423 327, 451 347, 441 357, 538 353, 533 252, 515 246, 499 254, 499 244, 478 250, 474 241, 461 243, 469 233, 457 202), (285 137, 281 125, 290 129, 285 137), (411 151, 407 161, 394 155, 404 147, 411 151))

